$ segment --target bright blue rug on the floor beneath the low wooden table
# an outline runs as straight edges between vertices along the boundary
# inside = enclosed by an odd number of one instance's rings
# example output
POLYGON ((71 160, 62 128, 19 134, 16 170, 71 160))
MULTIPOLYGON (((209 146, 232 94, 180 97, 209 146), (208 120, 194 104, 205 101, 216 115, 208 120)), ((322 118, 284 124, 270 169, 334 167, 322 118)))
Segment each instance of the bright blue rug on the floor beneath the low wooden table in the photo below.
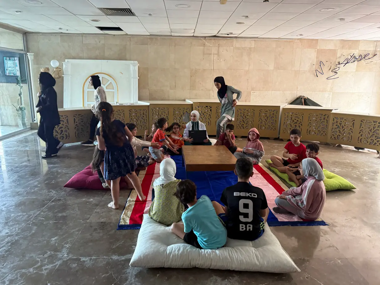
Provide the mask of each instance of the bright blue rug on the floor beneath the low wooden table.
MULTIPOLYGON (((237 176, 233 171, 194 171, 187 172, 185 167, 182 166, 182 155, 172 155, 171 158, 176 162, 177 179, 190 179, 192 180, 196 187, 196 196, 199 198, 202 195, 207 195, 211 200, 220 202, 220 196, 222 196, 223 190, 231 185, 237 183, 237 176)), ((153 197, 152 197, 153 199, 153 197)), ((269 209, 268 215, 268 225, 269 226, 327 226, 328 224, 323 221, 312 221, 312 222, 280 222, 275 215, 269 209)))

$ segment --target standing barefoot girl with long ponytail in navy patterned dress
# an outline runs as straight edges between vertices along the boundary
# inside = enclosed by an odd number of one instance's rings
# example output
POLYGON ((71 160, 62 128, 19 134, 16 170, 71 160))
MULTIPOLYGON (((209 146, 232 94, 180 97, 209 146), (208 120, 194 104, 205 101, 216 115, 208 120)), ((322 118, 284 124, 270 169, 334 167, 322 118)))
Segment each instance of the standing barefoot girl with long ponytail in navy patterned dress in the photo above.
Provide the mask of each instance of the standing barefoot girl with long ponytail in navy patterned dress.
POLYGON ((112 202, 108 207, 119 208, 120 178, 128 177, 136 189, 139 199, 144 201, 141 183, 135 173, 136 161, 130 141, 131 131, 120 120, 114 120, 113 108, 107 102, 100 102, 97 109, 100 128, 97 130, 98 148, 106 150, 104 157, 104 179, 111 180, 112 202), (128 136, 128 139, 126 136, 128 136))

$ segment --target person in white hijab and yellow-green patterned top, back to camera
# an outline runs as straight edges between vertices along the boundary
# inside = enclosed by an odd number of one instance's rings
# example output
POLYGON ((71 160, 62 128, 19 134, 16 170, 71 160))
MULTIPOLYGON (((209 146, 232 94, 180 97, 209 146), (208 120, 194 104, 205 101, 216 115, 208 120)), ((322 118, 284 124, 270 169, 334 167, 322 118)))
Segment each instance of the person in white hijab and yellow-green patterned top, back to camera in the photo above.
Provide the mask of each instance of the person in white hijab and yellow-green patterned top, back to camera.
POLYGON ((181 220, 185 207, 174 196, 180 179, 176 175, 176 163, 171 158, 165 158, 160 163, 160 177, 154 180, 154 199, 149 207, 149 217, 158 223, 170 226, 181 220))

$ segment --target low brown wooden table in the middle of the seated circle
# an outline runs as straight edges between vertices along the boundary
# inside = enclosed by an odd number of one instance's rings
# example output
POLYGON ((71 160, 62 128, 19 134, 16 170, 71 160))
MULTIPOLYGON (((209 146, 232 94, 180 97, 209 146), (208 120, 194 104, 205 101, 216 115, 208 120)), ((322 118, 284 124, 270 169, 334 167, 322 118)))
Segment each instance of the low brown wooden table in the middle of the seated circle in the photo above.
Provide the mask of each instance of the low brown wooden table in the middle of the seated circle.
POLYGON ((225 146, 182 146, 186 171, 234 171, 236 158, 225 146))

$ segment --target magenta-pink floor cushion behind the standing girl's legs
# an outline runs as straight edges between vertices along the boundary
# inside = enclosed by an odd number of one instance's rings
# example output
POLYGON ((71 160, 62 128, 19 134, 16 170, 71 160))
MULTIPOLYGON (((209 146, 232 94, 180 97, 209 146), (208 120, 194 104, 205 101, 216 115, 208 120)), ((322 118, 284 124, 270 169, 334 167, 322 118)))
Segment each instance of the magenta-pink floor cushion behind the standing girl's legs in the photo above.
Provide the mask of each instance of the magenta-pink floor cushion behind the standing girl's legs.
MULTIPOLYGON (((76 188, 76 189, 93 189, 93 190, 109 190, 109 188, 103 188, 97 172, 92 172, 91 166, 87 166, 81 172, 75 174, 65 184, 64 187, 76 188)), ((120 179, 120 189, 131 189, 132 183, 129 179, 127 181, 122 177, 120 179)))

